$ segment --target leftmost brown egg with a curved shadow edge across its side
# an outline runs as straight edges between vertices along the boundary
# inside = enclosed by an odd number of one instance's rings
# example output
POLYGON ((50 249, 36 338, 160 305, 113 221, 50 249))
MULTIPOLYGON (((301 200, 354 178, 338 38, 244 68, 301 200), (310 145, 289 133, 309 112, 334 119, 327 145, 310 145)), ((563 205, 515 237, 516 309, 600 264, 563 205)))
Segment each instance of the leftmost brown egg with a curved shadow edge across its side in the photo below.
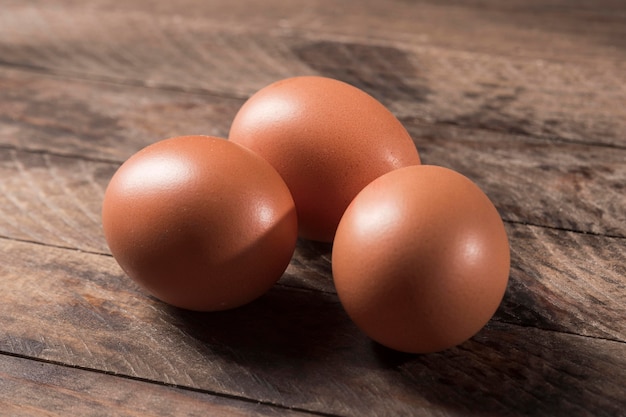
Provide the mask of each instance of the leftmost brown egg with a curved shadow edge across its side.
POLYGON ((104 234, 124 271, 157 298, 224 310, 267 291, 289 264, 297 218, 264 159, 209 136, 152 144, 107 187, 104 234))

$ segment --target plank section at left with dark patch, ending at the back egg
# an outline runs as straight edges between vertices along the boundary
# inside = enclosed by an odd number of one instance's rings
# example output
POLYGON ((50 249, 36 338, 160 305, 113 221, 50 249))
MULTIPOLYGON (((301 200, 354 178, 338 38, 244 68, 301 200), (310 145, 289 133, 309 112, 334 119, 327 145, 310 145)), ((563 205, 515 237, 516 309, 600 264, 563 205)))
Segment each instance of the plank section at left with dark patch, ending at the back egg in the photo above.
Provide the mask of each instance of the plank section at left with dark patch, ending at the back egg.
POLYGON ((241 104, 0 68, 0 146, 122 162, 171 136, 225 137, 241 104))

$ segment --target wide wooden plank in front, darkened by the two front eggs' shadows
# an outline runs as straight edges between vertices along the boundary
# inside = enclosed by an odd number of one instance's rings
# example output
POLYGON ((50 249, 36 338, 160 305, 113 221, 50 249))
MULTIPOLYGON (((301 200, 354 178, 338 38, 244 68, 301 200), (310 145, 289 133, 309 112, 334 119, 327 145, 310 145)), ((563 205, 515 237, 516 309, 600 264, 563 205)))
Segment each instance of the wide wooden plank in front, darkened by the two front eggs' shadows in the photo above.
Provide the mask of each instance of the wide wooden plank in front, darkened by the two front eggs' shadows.
POLYGON ((0 240, 0 257, 3 352, 340 415, 626 406, 623 342, 493 321, 460 347, 403 355, 362 335, 334 294, 279 285, 200 314, 146 297, 108 256, 0 240))

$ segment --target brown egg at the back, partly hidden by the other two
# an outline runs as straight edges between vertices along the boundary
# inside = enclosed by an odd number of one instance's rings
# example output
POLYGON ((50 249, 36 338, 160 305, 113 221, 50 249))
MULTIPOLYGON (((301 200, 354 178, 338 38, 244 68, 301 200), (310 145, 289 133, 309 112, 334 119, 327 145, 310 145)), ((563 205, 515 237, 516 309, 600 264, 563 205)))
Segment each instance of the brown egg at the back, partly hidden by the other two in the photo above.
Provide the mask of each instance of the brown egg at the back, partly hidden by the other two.
POLYGON ((350 201, 380 175, 419 164, 402 124, 362 90, 324 77, 271 84, 241 107, 229 139, 267 159, 298 212, 300 236, 332 241, 350 201))

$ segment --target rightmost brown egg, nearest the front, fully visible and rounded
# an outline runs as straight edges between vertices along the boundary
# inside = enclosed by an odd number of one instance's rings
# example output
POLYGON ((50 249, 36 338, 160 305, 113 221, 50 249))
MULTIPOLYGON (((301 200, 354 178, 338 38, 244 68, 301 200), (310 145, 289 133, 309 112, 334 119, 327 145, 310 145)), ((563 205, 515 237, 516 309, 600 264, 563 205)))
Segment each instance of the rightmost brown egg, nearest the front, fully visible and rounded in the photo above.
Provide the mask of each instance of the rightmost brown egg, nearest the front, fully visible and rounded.
POLYGON ((504 225, 487 196, 461 174, 426 165, 365 187, 332 251, 348 315, 372 339, 411 353, 476 334, 502 300, 509 262, 504 225))

